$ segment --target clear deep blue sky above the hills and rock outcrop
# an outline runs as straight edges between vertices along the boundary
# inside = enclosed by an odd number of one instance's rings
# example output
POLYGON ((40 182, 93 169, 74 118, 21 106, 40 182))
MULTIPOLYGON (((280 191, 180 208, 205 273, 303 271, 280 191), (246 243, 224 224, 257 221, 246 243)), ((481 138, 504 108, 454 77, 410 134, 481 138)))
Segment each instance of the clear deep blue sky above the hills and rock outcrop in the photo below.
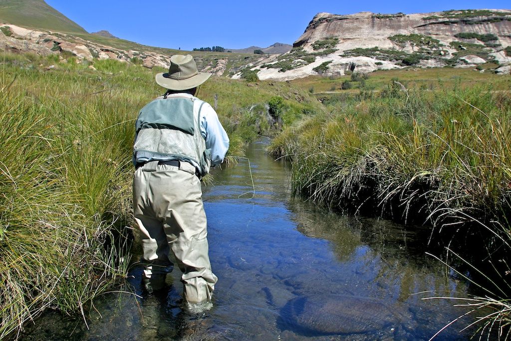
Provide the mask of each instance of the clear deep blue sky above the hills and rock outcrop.
POLYGON ((138 43, 191 50, 292 44, 318 12, 423 13, 450 9, 509 9, 507 1, 140 1, 46 0, 88 32, 107 30, 138 43))

